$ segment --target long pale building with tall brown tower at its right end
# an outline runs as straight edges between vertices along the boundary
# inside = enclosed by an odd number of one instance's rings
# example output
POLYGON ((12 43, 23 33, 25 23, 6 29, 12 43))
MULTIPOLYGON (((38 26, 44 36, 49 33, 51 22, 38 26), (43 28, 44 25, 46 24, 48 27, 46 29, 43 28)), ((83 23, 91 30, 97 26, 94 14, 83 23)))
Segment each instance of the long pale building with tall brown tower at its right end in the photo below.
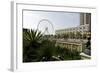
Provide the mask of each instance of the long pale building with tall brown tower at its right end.
POLYGON ((65 34, 68 32, 91 32, 91 14, 80 13, 80 25, 77 27, 71 27, 55 31, 56 34, 65 34))

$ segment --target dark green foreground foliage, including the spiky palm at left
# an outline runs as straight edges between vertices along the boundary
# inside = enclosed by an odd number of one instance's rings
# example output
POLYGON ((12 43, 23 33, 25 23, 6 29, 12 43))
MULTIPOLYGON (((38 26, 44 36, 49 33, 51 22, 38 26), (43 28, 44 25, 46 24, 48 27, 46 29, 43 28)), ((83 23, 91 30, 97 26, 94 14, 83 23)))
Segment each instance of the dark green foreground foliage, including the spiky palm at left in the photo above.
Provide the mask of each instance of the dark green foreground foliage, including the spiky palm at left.
POLYGON ((80 60, 79 52, 55 46, 56 41, 42 39, 37 30, 23 29, 23 62, 80 60))

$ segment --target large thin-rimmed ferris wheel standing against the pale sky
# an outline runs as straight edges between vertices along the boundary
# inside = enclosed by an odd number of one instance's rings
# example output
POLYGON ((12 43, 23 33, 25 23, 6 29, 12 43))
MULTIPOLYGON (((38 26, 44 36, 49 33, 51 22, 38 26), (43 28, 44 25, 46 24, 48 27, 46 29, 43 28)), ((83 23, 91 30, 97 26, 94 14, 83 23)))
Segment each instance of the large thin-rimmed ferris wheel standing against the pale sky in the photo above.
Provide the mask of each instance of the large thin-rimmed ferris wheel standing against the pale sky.
POLYGON ((44 35, 53 35, 54 27, 51 21, 48 19, 42 19, 38 22, 37 30, 41 31, 44 35))

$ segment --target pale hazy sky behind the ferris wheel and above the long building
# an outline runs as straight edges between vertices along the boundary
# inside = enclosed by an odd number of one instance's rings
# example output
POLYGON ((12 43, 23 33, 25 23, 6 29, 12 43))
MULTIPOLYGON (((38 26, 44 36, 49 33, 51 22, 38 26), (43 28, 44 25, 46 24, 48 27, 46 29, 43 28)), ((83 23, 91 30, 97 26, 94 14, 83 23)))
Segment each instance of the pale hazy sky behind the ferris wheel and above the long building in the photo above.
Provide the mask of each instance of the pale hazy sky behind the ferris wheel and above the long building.
POLYGON ((23 28, 34 30, 38 28, 43 33, 55 34, 55 30, 78 25, 80 25, 80 13, 23 11, 23 28))

